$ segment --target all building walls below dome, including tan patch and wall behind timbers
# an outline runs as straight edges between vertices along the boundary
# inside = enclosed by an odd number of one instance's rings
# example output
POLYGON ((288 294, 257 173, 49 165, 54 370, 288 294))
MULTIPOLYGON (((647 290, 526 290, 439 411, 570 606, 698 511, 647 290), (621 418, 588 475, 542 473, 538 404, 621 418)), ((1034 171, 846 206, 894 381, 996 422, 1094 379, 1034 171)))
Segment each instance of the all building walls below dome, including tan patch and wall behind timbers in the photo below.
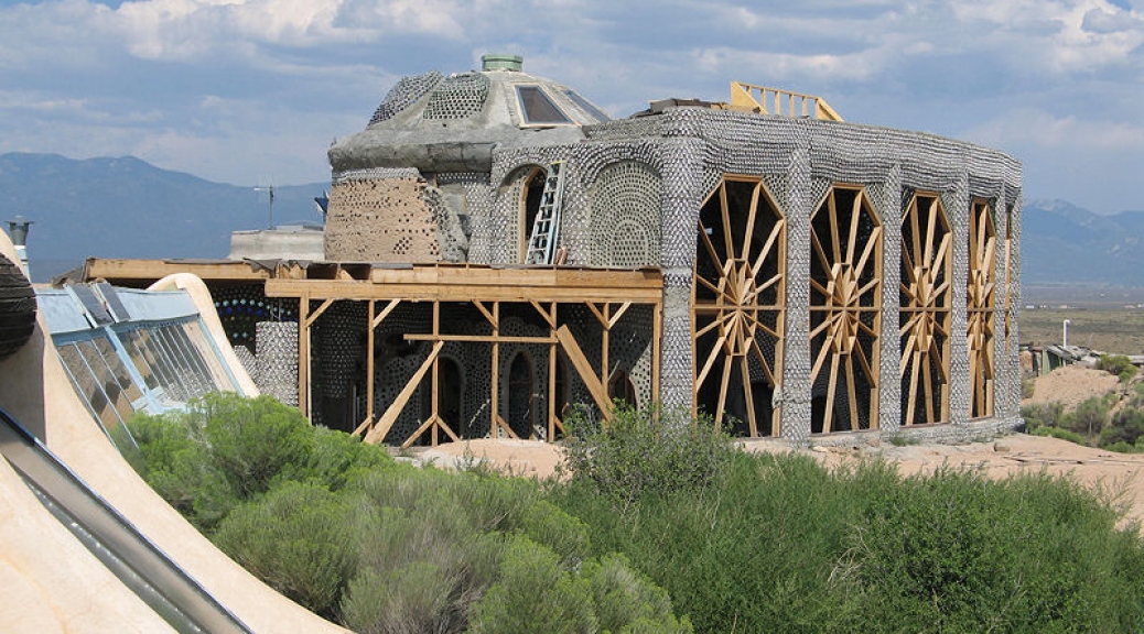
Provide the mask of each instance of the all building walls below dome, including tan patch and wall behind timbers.
MULTIPOLYGON (((412 88, 411 88, 412 90, 412 88)), ((537 168, 565 161, 559 246, 569 250, 570 265, 638 266, 664 270, 662 364, 660 398, 665 406, 690 406, 692 393, 691 284, 696 259, 697 224, 706 196, 726 175, 762 179, 786 218, 786 297, 784 313, 784 363, 781 385, 773 396, 780 411, 781 435, 795 443, 847 442, 847 439, 908 433, 936 440, 958 440, 993 433, 1019 423, 1020 369, 1017 360, 1016 322, 1006 336, 1004 298, 1014 318, 1019 305, 1018 247, 1020 164, 996 151, 923 133, 810 119, 760 117, 732 111, 675 109, 658 117, 613 121, 585 128, 586 139, 563 145, 502 147, 493 153, 490 174, 438 175, 439 193, 426 195, 415 170, 372 170, 372 179, 344 177, 335 182, 335 196, 343 210, 327 224, 331 243, 341 243, 337 259, 424 262, 467 258, 492 265, 515 265, 521 243, 531 227, 521 225, 522 191, 537 168), (373 174, 378 172, 378 174, 373 174), (383 174, 382 174, 383 172, 383 174), (379 180, 383 179, 383 182, 379 180), (813 386, 808 314, 810 307, 810 218, 835 184, 861 186, 881 226, 882 331, 879 337, 879 431, 840 433, 811 439, 813 386), (901 378, 898 276, 900 219, 905 196, 921 190, 938 195, 953 234, 953 284, 951 289, 950 424, 900 426, 901 378), (436 198, 435 198, 436 196, 436 198), (998 290, 995 352, 995 416, 969 419, 969 353, 966 342, 968 273, 968 214, 975 198, 991 201, 998 227, 998 290), (379 201, 387 204, 379 204, 379 201), (462 200, 462 203, 455 202, 462 200), (458 209, 462 204, 463 209, 458 209), (384 209, 381 209, 384 208, 384 209), (443 210, 460 212, 451 222, 443 210), (1011 211, 1010 211, 1011 210, 1011 211), (1012 248, 1006 283, 1004 227, 1011 214, 1012 248), (638 231, 621 231, 625 223, 638 231), (458 228, 460 227, 460 228, 458 228), (467 242, 458 239, 463 235, 467 242), (451 240, 454 242, 451 243, 451 240), (444 246, 444 247, 443 247, 444 246)), ((403 308, 404 310, 404 308, 403 308)), ((525 312, 527 307, 524 307, 525 312)), ((596 359, 598 330, 594 318, 570 308, 562 321, 574 331, 589 359, 596 359), (595 347, 594 347, 595 346, 595 347)), ((400 313, 400 311, 398 311, 400 313)), ((444 316, 444 315, 443 315, 444 316)), ((631 374, 641 399, 651 393, 650 311, 629 314, 622 332, 613 332, 612 368, 631 374)), ((451 313, 458 331, 487 334, 487 324, 466 311, 451 313), (464 324, 464 326, 460 326, 464 324)), ((416 320, 395 313, 383 332, 411 331, 416 320)), ((546 335, 525 315, 505 316, 505 334, 546 335)), ((502 378, 508 376, 514 351, 500 352, 502 378)), ((547 383, 547 346, 529 350, 535 385, 547 383)), ((424 350, 411 351, 379 366, 378 407, 404 385, 423 359, 424 350)), ((447 354, 466 374, 466 417, 471 432, 487 430, 488 348, 446 346, 447 354), (455 350, 454 350, 455 347, 455 350), (480 401, 485 399, 485 401, 480 401), (479 401, 479 402, 478 402, 479 401)), ((598 368, 597 368, 598 370, 598 368)), ((570 375, 573 401, 588 400, 574 372, 570 375)), ((500 398, 507 407, 506 391, 500 398)), ((537 407, 542 407, 538 402, 537 407)), ((411 404, 395 427, 395 436, 415 428, 419 415, 411 404)))

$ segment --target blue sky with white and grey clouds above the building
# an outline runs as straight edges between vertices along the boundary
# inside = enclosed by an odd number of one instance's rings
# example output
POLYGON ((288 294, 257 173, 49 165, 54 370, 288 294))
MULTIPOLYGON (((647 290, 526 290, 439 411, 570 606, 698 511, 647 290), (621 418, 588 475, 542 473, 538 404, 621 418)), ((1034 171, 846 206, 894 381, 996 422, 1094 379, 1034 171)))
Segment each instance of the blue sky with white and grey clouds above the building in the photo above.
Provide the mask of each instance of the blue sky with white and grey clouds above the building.
POLYGON ((613 117, 821 95, 1014 154, 1026 198, 1144 210, 1144 0, 0 0, 0 153, 321 182, 397 79, 490 51, 613 117))

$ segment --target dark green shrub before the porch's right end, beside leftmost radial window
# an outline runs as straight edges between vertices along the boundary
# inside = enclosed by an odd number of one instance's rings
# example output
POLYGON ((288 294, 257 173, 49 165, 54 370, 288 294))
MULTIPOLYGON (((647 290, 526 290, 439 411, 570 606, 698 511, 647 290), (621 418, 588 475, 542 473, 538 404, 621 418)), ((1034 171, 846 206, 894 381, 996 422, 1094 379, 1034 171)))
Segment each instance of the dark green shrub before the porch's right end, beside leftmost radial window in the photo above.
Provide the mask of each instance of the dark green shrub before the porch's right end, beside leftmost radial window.
POLYGON ((736 452, 709 420, 697 424, 684 411, 617 402, 612 414, 606 424, 569 417, 563 466, 573 481, 591 483, 621 507, 646 493, 706 487, 736 452))

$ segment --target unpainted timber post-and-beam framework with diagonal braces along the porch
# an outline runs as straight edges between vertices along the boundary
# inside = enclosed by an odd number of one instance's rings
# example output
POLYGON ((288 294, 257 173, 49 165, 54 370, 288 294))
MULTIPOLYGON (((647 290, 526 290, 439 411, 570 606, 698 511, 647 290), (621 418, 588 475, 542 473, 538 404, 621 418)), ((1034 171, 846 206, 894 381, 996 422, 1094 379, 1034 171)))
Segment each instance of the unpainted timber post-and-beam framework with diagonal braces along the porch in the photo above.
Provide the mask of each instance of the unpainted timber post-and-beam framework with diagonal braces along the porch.
MULTIPOLYGON (((297 273, 297 272, 295 272, 297 273)), ((440 388, 440 352, 447 342, 491 344, 491 382, 488 395, 491 435, 517 438, 500 412, 500 346, 501 344, 547 345, 548 393, 556 385, 557 354, 563 353, 591 395, 593 401, 606 418, 611 412, 607 393, 610 380, 609 337, 611 330, 635 305, 650 306, 652 314, 652 400, 659 399, 660 338, 662 334, 662 273, 645 268, 637 271, 586 270, 586 268, 493 268, 471 265, 418 265, 400 268, 343 267, 331 275, 321 272, 323 279, 303 275, 281 275, 267 281, 267 297, 295 298, 299 302, 299 407, 310 414, 310 329, 317 319, 334 302, 366 302, 368 305, 366 348, 372 351, 374 332, 379 326, 402 303, 428 303, 431 311, 431 329, 428 334, 407 334, 408 342, 431 344, 428 356, 408 377, 397 398, 383 412, 374 409, 374 359, 367 355, 366 367, 366 416, 356 428, 367 442, 394 441, 389 439, 394 423, 423 383, 431 391, 431 412, 410 436, 399 440, 408 447, 426 434, 437 444, 442 436, 460 440, 456 432, 440 417, 438 390, 440 388), (311 303, 317 302, 317 307, 311 303), (476 307, 487 322, 487 335, 455 335, 442 331, 442 305, 466 304, 476 307), (508 336, 501 332, 501 313, 506 304, 521 304, 532 310, 548 326, 545 336, 508 336), (599 324, 601 358, 594 366, 583 352, 583 346, 566 323, 558 319, 562 306, 582 305, 599 324), (598 370, 597 370, 598 369, 598 370)), ((547 399, 547 438, 555 438, 563 431, 561 412, 556 411, 556 400, 547 399)))

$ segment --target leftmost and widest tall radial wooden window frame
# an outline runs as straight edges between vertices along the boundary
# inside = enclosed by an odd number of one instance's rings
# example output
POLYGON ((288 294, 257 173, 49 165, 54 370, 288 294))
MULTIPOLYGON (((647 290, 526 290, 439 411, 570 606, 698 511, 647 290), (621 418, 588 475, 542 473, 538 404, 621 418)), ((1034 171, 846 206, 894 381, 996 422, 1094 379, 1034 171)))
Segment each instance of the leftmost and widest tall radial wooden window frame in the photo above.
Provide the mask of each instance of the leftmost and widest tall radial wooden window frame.
POLYGON ((693 407, 753 436, 779 433, 761 391, 781 380, 786 222, 772 200, 757 177, 728 176, 712 191, 692 284, 693 407))

